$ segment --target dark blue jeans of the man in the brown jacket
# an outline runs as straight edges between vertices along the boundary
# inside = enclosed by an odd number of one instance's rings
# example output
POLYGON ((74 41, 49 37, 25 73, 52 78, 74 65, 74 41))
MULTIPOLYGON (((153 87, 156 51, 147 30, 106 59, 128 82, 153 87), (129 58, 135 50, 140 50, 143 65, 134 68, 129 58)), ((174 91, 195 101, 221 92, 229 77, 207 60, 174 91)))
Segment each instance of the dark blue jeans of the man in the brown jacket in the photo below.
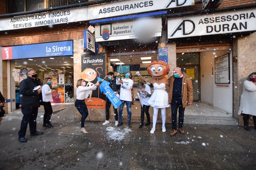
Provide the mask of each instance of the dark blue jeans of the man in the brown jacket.
POLYGON ((182 128, 184 122, 184 111, 182 101, 181 102, 171 102, 171 121, 172 121, 172 129, 177 130, 177 112, 179 109, 179 122, 178 127, 182 128))

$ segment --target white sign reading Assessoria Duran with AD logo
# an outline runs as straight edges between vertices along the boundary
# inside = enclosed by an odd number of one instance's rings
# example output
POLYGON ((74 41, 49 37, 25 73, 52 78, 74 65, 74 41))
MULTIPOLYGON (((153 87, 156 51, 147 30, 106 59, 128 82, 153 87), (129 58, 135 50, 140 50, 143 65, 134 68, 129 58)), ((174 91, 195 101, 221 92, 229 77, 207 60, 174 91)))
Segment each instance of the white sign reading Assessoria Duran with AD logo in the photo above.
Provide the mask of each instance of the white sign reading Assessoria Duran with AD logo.
POLYGON ((168 39, 256 30, 256 8, 168 19, 168 39))

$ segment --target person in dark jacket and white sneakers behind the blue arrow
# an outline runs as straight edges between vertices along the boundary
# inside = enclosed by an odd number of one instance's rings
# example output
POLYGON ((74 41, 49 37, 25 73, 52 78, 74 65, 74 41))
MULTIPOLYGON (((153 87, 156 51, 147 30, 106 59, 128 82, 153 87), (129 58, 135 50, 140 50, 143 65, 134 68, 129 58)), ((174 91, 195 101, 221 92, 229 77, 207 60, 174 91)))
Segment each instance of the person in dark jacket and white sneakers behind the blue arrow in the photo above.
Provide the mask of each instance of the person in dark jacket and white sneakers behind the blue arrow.
MULTIPOLYGON (((110 88, 116 93, 119 94, 120 93, 120 85, 116 84, 116 79, 114 78, 114 73, 113 72, 109 72, 108 74, 108 82, 110 83, 109 86, 110 88)), ((105 93, 104 93, 105 94, 105 93)), ((106 125, 109 123, 109 109, 111 106, 111 102, 109 101, 109 99, 106 97, 106 120, 104 123, 102 123, 102 125, 106 125)), ((114 106, 113 106, 114 108, 114 106)), ((118 125, 118 112, 117 109, 114 108, 114 114, 115 114, 115 126, 118 125)))

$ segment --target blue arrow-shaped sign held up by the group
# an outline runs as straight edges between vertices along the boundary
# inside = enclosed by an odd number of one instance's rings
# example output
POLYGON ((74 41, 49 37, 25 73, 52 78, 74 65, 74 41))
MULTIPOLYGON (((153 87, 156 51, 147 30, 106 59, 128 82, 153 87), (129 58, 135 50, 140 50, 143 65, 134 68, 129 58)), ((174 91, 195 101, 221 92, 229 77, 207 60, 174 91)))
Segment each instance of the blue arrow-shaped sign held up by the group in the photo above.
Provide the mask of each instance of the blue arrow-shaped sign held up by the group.
MULTIPOLYGON (((102 80, 102 78, 99 78, 99 77, 97 77, 97 79, 98 79, 98 81, 102 80)), ((105 95, 107 96, 109 101, 112 103, 112 105, 116 109, 116 108, 118 108, 118 106, 120 106, 122 104, 122 102, 115 95, 115 92, 110 88, 109 84, 110 84, 109 82, 104 80, 101 83, 101 85, 99 86, 99 89, 101 90, 101 93, 105 92, 105 95)))

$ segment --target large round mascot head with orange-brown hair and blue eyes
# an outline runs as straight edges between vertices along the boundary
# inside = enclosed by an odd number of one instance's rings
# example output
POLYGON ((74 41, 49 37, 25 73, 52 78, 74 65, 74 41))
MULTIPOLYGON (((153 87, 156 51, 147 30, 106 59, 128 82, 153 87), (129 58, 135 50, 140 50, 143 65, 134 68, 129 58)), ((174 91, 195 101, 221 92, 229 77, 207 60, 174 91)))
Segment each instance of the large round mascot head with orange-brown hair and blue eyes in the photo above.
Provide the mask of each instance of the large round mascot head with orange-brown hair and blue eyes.
POLYGON ((164 61, 153 61, 148 66, 148 74, 155 79, 161 79, 170 71, 169 65, 164 61))

